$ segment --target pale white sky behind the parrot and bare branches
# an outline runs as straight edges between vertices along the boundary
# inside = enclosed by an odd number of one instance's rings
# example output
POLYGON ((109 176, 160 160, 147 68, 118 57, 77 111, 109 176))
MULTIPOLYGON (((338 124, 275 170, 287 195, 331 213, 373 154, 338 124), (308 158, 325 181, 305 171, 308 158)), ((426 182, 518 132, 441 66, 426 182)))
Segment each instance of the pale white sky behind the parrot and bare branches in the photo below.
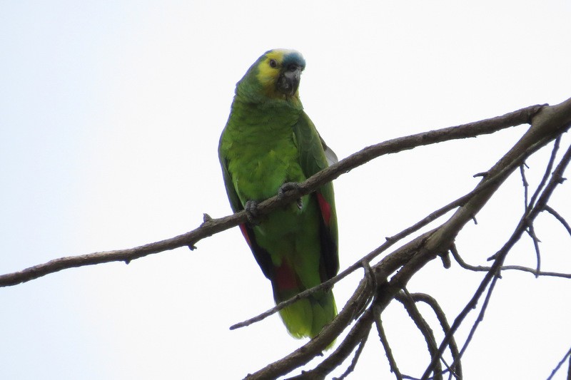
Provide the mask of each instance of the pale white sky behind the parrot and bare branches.
MULTIPOLYGON (((303 53, 305 111, 345 158, 569 98, 570 19, 569 1, 3 1, 0 272, 173 237, 203 212, 228 215, 218 138, 235 83, 270 48, 303 53)), ((378 158, 335 180, 341 269, 473 189, 473 174, 526 128, 378 158)), ((562 150, 570 143, 565 135, 562 150)), ((532 189, 550 147, 527 163, 532 189)), ((458 237, 471 264, 486 265, 514 230, 518 173, 458 237)), ((570 186, 550 203, 567 220, 570 186)), ((571 272, 563 227, 540 215, 535 228, 542 269, 571 272)), ((1 288, 0 379, 236 379, 304 343, 277 316, 229 331, 273 306, 271 286, 238 229, 197 246, 1 288)), ((535 266, 529 237, 507 263, 535 266)), ((361 276, 335 286, 339 307, 361 276)), ((451 322, 483 276, 435 260, 408 289, 432 294, 451 322)), ((569 280, 504 273, 465 378, 546 379, 571 345, 570 299, 569 280)), ((426 345, 400 304, 383 322, 400 371, 420 376, 426 345)), ((373 330, 350 379, 392 377, 373 330)))

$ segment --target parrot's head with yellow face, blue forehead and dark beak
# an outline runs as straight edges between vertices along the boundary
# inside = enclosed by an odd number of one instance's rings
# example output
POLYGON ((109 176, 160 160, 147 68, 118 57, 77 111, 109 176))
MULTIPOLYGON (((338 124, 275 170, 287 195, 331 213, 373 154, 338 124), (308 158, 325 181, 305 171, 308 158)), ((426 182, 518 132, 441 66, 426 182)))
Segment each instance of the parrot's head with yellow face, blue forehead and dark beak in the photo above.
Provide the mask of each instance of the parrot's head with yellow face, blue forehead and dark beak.
POLYGON ((236 95, 248 101, 285 101, 299 104, 299 82, 305 59, 295 50, 273 49, 263 53, 236 85, 236 95))

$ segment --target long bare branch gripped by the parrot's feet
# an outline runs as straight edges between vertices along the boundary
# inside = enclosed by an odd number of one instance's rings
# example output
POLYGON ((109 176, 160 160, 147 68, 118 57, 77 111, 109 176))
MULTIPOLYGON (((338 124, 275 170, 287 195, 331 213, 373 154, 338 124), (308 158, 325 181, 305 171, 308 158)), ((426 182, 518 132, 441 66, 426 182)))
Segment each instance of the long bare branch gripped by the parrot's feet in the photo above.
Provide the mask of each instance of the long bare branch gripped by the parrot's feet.
MULTIPOLYGON (((540 111, 542 107, 543 106, 530 106, 496 118, 459 125, 457 127, 418 133, 416 135, 388 140, 385 143, 371 145, 313 175, 313 177, 308 178, 308 180, 305 180, 303 183, 300 183, 299 192, 301 195, 309 194, 320 185, 330 182, 331 180, 338 178, 343 173, 346 173, 359 165, 363 165, 380 155, 397 153, 402 150, 408 150, 421 145, 440 143, 446 140, 469 138, 477 135, 494 133, 495 131, 503 128, 509 128, 522 123, 529 123, 532 117, 540 111)), ((281 207, 288 202, 293 202, 297 197, 299 197, 299 195, 294 194, 293 191, 286 192, 285 195, 281 197, 271 197, 270 199, 258 204, 258 213, 259 215, 266 215, 277 207, 281 207)), ((123 261, 128 263, 131 262, 131 260, 136 260, 138 258, 166 250, 173 250, 178 247, 188 246, 193 249, 196 243, 203 238, 209 237, 223 230, 228 230, 228 228, 235 227, 236 225, 246 222, 246 220, 246 212, 241 211, 227 217, 205 220, 205 222, 195 230, 170 239, 161 240, 159 242, 153 242, 125 250, 113 250, 95 252, 87 255, 61 257, 40 265, 34 265, 33 267, 23 269, 19 272, 3 274, 0 276, 0 287, 21 284, 22 282, 31 281, 32 279, 45 276, 46 274, 59 272, 62 269, 96 265, 104 262, 123 261)))

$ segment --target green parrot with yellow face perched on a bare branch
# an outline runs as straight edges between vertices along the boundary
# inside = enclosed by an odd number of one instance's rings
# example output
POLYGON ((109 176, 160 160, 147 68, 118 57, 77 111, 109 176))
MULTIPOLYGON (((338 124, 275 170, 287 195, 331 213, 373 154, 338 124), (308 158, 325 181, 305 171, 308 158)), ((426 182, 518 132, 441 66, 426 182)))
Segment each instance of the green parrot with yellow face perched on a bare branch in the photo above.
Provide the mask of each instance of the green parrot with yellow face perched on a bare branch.
MULTIPOLYGON (((218 146, 234 212, 246 209, 252 216, 256 202, 337 162, 303 111, 298 86, 304 68, 305 60, 297 51, 266 51, 236 84, 218 146)), ((331 183, 240 228, 271 281, 276 304, 325 282, 339 270, 331 183)), ((300 299, 281 309, 280 315, 293 337, 313 338, 337 315, 333 292, 300 299)))

